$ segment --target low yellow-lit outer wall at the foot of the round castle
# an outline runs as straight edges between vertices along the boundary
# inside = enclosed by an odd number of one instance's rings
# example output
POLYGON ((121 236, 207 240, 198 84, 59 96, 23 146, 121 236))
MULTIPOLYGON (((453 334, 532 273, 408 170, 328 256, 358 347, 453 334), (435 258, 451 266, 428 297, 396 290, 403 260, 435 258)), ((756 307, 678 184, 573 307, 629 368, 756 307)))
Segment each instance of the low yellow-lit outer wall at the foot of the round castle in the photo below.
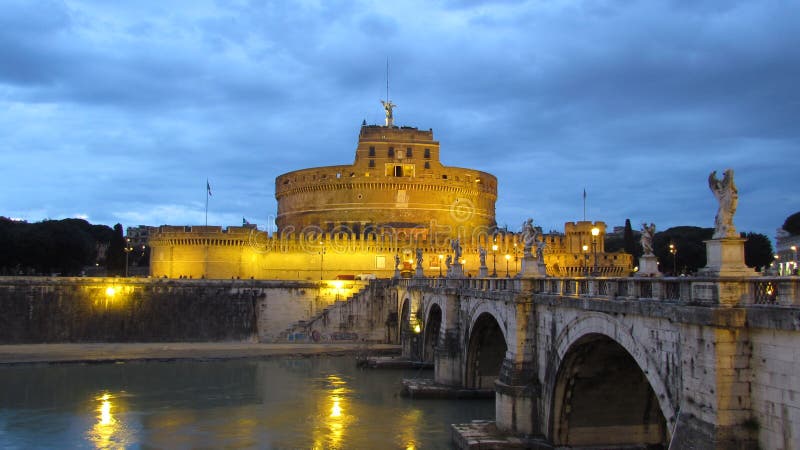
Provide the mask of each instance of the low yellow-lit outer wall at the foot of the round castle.
MULTIPOLYGON (((549 275, 581 276, 594 264, 591 251, 571 251, 569 243, 579 240, 580 236, 576 237, 567 225, 570 232, 545 236, 548 246, 544 258, 549 275)), ((626 253, 603 252, 605 224, 592 225, 603 230, 597 238, 598 272, 604 276, 627 275, 633 267, 633 257, 626 253)), ((161 227, 150 238, 150 275, 155 278, 271 280, 330 280, 342 275, 390 278, 395 274, 395 256, 400 258, 399 267, 405 269, 406 274, 414 271, 417 248, 423 252, 426 277, 446 274, 444 259, 452 254, 451 238, 446 233, 425 237, 414 239, 413 235, 388 228, 375 234, 268 236, 251 227, 161 227)), ((487 250, 486 265, 490 274, 496 268, 498 276, 513 277, 521 268, 522 244, 516 233, 492 236, 482 232, 464 236, 460 242, 465 276, 478 276, 479 246, 487 250), (496 252, 492 251, 493 244, 498 246, 496 252)), ((577 244, 573 247, 580 248, 577 244)))

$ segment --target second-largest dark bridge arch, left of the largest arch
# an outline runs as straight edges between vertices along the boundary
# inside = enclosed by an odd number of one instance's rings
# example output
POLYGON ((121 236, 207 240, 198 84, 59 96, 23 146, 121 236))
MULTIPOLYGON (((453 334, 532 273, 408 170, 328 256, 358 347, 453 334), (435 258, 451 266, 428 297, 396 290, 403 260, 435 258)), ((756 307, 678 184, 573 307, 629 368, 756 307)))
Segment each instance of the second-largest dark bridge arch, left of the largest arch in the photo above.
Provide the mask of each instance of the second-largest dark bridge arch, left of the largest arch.
POLYGON ((467 343, 465 383, 471 389, 493 389, 506 357, 504 327, 490 312, 476 314, 467 343))

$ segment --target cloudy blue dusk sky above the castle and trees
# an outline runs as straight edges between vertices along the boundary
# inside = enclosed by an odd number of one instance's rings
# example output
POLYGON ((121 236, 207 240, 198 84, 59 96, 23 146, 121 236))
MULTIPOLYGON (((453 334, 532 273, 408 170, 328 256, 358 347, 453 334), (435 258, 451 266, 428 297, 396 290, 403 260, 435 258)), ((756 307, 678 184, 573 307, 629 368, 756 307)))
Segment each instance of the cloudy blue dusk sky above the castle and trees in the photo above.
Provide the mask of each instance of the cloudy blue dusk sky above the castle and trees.
POLYGON ((739 231, 800 210, 800 2, 0 3, 0 216, 274 228, 363 120, 498 178, 497 222, 739 231))

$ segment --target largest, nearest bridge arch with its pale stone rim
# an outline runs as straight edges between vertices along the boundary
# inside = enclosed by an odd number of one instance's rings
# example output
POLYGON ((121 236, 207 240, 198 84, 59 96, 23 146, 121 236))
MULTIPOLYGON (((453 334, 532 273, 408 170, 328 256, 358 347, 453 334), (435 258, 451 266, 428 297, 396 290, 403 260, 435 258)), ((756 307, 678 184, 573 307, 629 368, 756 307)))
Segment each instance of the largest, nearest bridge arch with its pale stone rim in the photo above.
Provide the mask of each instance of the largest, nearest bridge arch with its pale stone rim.
POLYGON ((675 409, 643 344, 615 318, 589 313, 554 342, 545 374, 545 423, 559 445, 666 448, 675 409))

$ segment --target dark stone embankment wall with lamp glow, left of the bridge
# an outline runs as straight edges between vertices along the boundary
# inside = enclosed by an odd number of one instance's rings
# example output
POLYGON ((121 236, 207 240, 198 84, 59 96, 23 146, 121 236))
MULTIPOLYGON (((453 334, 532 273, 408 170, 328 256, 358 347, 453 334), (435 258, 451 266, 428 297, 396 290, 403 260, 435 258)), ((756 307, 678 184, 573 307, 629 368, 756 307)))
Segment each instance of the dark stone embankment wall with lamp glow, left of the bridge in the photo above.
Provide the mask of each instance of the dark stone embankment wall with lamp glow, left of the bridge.
POLYGON ((273 342, 363 285, 0 277, 0 343, 273 342))

